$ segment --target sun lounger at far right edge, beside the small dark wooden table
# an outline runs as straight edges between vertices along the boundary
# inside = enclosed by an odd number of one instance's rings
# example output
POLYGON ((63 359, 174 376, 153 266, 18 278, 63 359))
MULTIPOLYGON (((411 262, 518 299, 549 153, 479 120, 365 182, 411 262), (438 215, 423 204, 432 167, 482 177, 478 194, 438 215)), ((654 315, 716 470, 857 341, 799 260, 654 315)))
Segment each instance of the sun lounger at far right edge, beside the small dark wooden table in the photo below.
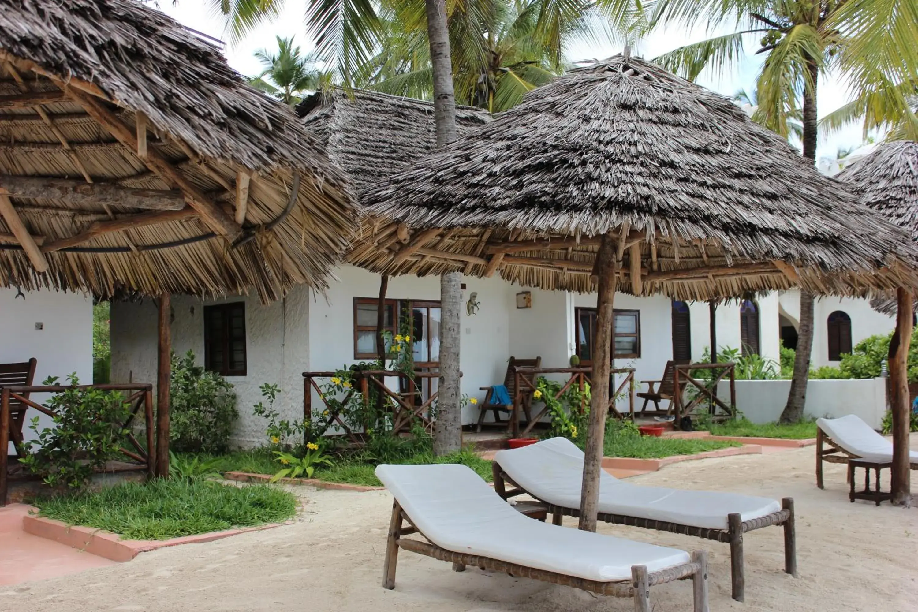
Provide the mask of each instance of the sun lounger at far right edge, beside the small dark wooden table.
MULTIPOLYGON (((912 470, 918 470, 918 452, 910 453, 912 470)), ((816 419, 816 486, 823 489, 823 462, 849 459, 892 461, 892 442, 873 430, 861 417, 847 415, 816 419), (829 448, 825 449, 825 445, 829 448)))

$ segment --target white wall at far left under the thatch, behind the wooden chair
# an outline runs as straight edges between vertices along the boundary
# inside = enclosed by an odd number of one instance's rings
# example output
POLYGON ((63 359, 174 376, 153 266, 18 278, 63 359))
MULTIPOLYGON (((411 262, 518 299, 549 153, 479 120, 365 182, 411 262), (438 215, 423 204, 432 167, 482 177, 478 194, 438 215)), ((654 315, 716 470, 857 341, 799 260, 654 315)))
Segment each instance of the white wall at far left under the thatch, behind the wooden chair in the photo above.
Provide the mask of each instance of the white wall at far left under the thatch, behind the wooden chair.
MULTIPOLYGON (((17 297, 16 288, 0 288, 0 363, 38 360, 35 384, 48 376, 66 383, 76 373, 81 384, 93 382, 93 300, 62 291, 29 291, 17 297), (37 324, 41 329, 37 329, 37 324)), ((33 394, 39 403, 45 394, 33 394)), ((30 412, 28 417, 39 415, 30 412)), ((40 416, 42 424, 50 419, 40 416)), ((28 423, 23 428, 31 438, 28 423)))

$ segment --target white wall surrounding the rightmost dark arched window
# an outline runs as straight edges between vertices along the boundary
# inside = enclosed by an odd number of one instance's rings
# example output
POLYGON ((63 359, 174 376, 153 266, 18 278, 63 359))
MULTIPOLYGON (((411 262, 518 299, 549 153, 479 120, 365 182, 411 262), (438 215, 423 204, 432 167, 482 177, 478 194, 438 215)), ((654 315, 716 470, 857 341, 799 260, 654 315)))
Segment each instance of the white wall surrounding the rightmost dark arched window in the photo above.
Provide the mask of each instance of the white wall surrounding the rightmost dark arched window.
MULTIPOLYGON (((800 320, 800 292, 782 292, 781 308, 794 319, 800 320)), ((880 314, 870 307, 866 299, 851 297, 822 297, 813 306, 812 367, 838 365, 829 361, 828 320, 835 310, 841 310, 851 317, 851 346, 877 334, 889 334, 896 327, 894 317, 880 314)))

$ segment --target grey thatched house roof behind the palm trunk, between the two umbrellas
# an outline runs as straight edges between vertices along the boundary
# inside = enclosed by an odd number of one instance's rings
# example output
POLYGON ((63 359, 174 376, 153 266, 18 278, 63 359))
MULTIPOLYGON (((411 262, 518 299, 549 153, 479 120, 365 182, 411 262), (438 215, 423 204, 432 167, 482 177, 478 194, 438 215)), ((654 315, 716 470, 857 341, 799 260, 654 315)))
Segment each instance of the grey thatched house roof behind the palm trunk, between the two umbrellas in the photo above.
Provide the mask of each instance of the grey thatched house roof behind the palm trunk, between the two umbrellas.
MULTIPOLYGON (((436 149, 433 103, 424 100, 335 87, 303 100, 297 113, 358 192, 436 149)), ((481 108, 456 108, 460 136, 490 120, 481 108)))

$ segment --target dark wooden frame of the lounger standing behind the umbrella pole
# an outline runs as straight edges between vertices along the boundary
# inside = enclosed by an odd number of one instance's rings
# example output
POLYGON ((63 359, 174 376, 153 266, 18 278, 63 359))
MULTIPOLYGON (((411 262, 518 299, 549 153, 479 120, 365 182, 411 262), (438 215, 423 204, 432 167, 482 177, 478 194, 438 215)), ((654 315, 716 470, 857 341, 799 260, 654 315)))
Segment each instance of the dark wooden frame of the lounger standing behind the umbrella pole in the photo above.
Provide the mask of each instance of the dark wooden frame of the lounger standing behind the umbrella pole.
MULTIPOLYGON (((548 511, 552 513, 552 524, 561 525, 562 517, 579 517, 579 508, 567 508, 554 506, 543 500, 538 495, 533 495, 530 491, 525 490, 503 471, 497 461, 491 462, 494 471, 494 490, 503 497, 509 499, 516 495, 531 495, 538 499, 548 511), (506 484, 515 486, 515 489, 507 490, 506 484)), ((794 529, 794 500, 793 497, 785 497, 781 500, 781 508, 778 512, 773 512, 765 517, 752 518, 743 520, 738 513, 727 515, 728 529, 710 529, 694 527, 691 525, 682 525, 681 523, 670 523, 665 520, 654 520, 643 517, 630 517, 626 515, 610 514, 600 512, 598 519, 605 523, 616 525, 628 525, 631 527, 640 527, 644 529, 656 529, 658 531, 669 531, 671 533, 681 533, 685 536, 694 536, 704 538, 705 540, 714 540, 724 544, 730 544, 730 570, 731 580, 733 583, 733 599, 743 601, 745 598, 745 577, 743 573, 743 534, 746 531, 780 525, 784 527, 784 571, 797 577, 797 535, 794 529)))

